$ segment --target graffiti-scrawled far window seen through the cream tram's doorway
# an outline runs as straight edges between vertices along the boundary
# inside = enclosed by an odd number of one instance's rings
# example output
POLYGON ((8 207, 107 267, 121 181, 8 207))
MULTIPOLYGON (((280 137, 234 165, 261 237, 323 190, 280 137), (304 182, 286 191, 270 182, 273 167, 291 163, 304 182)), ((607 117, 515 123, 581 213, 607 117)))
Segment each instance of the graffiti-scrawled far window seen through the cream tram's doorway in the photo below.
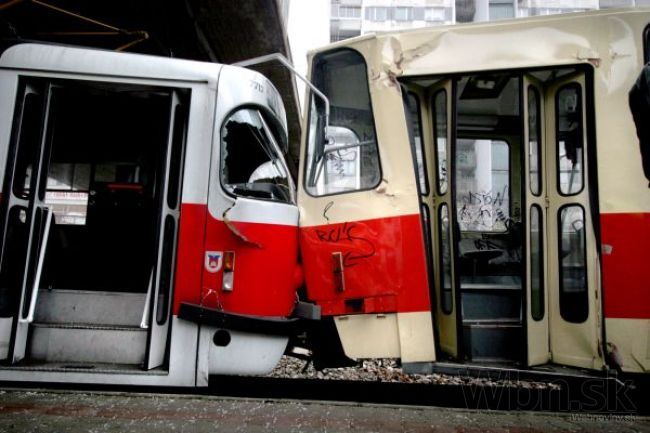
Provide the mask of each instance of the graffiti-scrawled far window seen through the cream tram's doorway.
POLYGON ((508 143, 457 140, 456 208, 461 231, 508 230, 511 224, 508 143))

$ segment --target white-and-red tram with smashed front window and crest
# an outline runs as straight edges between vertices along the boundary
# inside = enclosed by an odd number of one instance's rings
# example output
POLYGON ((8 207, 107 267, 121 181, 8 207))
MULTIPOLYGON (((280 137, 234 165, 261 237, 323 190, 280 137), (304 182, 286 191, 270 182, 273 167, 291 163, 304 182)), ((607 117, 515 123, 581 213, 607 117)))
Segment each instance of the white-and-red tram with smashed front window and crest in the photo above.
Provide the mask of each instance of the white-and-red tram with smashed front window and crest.
POLYGON ((0 380, 200 386, 272 369, 299 275, 272 84, 18 44, 0 94, 0 380))

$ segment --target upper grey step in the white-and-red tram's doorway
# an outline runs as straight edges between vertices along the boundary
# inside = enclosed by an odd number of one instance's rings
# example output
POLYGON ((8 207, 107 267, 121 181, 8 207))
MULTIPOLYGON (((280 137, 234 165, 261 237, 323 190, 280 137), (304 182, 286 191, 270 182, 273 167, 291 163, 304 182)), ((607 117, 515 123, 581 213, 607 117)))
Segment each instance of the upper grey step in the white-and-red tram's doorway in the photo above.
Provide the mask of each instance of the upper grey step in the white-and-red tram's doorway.
POLYGON ((145 293, 40 290, 35 321, 139 326, 145 293))

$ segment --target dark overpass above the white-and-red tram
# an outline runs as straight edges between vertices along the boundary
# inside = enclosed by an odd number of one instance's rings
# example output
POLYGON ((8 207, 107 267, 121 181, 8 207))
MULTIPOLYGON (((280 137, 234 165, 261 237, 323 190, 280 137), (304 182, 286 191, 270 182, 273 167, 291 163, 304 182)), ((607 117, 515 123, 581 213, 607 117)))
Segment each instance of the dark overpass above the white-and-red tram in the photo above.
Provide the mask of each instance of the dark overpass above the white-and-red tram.
MULTIPOLYGON (((276 52, 290 58, 287 7, 288 0, 0 0, 0 37, 220 63, 276 52)), ((283 95, 295 173, 295 80, 277 64, 255 69, 283 95)))

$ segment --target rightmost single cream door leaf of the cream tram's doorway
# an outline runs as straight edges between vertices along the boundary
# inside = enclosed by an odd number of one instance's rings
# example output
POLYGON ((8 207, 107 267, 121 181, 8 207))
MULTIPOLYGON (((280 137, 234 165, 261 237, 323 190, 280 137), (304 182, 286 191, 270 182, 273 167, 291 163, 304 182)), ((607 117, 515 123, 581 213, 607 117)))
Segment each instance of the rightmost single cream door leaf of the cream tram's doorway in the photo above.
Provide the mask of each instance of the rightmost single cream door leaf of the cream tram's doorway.
POLYGON ((548 265, 544 286, 553 362, 601 368, 600 265, 589 182, 593 166, 588 163, 595 143, 589 142, 586 92, 585 75, 580 72, 553 81, 546 89, 548 265))

